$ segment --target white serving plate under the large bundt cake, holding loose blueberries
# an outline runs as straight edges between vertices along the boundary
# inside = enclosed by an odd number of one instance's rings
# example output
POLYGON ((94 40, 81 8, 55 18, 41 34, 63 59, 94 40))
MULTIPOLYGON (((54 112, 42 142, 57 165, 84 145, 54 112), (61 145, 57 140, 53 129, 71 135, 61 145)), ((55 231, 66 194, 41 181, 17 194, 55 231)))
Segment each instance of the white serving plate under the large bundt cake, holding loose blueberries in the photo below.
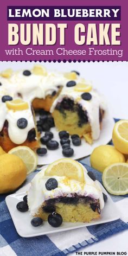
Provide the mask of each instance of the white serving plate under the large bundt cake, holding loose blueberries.
MULTIPOLYGON (((113 127, 114 127, 114 120, 111 116, 107 116, 107 118, 105 118, 103 120, 103 129, 101 130, 100 133, 100 137, 98 140, 95 140, 93 145, 89 145, 88 143, 85 142, 85 139, 83 138, 81 140, 81 145, 80 146, 74 146, 72 144, 72 140, 71 140, 71 148, 74 149, 74 155, 70 158, 72 159, 80 159, 80 158, 84 158, 86 156, 91 155, 92 151, 94 148, 96 148, 99 145, 102 144, 107 144, 108 142, 110 142, 110 140, 112 139, 112 131, 113 131, 113 127)), ((63 158, 64 156, 62 155, 62 147, 60 145, 60 138, 59 138, 59 134, 58 131, 56 130, 56 128, 52 128, 50 131, 53 132, 54 134, 54 138, 55 140, 57 140, 57 142, 59 142, 59 148, 56 150, 48 150, 47 154, 45 156, 39 156, 38 157, 38 164, 39 165, 44 165, 44 164, 50 164, 60 158, 63 158)), ((44 132, 41 134, 41 136, 44 135, 44 132)), ((46 148, 45 145, 42 145, 43 148, 46 148)))

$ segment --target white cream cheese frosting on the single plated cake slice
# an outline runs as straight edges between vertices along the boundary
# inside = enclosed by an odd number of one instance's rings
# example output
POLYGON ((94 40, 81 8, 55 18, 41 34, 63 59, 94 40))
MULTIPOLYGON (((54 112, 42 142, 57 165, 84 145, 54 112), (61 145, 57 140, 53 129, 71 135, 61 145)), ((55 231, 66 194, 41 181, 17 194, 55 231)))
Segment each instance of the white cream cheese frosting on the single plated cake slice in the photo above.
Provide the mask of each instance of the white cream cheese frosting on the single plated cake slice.
POLYGON ((86 168, 84 168, 83 165, 82 168, 84 169, 84 183, 68 179, 66 176, 46 176, 46 168, 43 168, 43 170, 38 172, 38 174, 36 174, 31 181, 30 189, 27 192, 30 214, 34 216, 42 206, 43 202, 46 200, 64 196, 73 197, 74 193, 76 193, 78 196, 90 196, 95 200, 99 199, 100 209, 103 209, 103 193, 98 181, 91 180, 91 178, 89 178, 87 175, 86 168), (46 189, 45 184, 51 177, 56 179, 58 187, 49 191, 46 189))

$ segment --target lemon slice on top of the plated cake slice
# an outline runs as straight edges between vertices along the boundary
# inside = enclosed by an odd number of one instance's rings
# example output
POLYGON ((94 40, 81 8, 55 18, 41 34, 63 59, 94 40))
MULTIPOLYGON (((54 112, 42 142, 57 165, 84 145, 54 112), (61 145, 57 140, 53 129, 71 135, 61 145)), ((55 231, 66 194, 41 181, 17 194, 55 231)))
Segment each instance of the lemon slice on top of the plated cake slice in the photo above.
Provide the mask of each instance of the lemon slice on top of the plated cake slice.
POLYGON ((77 180, 84 182, 84 170, 81 164, 69 158, 62 158, 49 164, 45 171, 47 176, 66 176, 72 178, 72 180, 77 180))

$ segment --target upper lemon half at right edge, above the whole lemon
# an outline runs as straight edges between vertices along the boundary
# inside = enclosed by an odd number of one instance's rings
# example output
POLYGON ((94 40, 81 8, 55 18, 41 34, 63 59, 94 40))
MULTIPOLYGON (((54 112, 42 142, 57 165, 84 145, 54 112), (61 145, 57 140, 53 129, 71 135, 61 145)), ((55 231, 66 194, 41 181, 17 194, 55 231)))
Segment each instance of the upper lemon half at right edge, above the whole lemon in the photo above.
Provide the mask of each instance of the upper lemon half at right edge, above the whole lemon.
POLYGON ((114 125, 112 140, 115 148, 128 154, 128 120, 120 120, 114 125))

